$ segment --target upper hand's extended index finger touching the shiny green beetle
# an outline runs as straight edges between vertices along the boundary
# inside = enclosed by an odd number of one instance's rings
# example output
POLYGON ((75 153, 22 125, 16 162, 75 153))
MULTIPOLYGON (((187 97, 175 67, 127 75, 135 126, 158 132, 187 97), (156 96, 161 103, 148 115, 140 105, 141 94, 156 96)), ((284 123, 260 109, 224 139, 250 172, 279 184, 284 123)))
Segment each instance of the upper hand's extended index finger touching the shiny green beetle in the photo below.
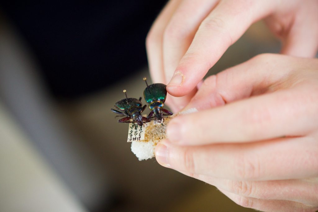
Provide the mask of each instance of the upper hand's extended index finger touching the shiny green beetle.
POLYGON ((221 1, 200 25, 167 85, 173 96, 189 93, 246 29, 272 10, 275 1, 221 1))

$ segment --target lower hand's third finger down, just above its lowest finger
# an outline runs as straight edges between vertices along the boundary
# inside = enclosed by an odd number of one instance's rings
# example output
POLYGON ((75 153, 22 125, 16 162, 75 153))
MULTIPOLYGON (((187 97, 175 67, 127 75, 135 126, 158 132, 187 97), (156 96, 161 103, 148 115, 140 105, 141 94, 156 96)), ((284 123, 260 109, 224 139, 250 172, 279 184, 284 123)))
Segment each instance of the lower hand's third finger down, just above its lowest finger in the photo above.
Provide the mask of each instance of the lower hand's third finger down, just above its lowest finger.
POLYGON ((308 180, 235 181, 202 174, 181 173, 233 194, 257 199, 288 200, 318 205, 318 178, 308 180))

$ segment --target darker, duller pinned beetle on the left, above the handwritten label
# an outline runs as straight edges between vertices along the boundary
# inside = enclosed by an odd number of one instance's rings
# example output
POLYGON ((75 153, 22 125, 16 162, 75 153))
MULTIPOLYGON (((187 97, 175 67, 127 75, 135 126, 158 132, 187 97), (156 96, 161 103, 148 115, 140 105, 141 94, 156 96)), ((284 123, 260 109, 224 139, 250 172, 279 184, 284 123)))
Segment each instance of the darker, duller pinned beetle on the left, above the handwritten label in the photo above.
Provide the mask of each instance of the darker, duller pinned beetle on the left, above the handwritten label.
MULTIPOLYGON (((141 97, 139 99, 127 98, 126 90, 124 90, 126 99, 121 99, 115 103, 115 107, 118 110, 111 109, 114 113, 120 114, 119 116, 126 116, 118 120, 120 123, 137 123, 139 126, 142 126, 143 123, 149 122, 150 120, 142 116, 142 112, 146 109, 147 105, 142 107, 141 97), (132 121, 131 121, 132 119, 132 121)), ((117 116, 116 116, 117 117, 117 116)))

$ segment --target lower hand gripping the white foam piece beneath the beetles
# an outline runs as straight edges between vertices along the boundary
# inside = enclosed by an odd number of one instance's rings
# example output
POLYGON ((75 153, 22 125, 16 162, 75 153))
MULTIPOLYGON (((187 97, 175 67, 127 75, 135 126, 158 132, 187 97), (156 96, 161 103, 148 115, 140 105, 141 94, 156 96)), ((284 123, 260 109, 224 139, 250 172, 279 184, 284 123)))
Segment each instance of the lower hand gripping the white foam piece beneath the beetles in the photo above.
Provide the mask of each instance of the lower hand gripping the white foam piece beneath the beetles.
POLYGON ((261 211, 318 209, 318 59, 263 54, 207 78, 157 161, 261 211))

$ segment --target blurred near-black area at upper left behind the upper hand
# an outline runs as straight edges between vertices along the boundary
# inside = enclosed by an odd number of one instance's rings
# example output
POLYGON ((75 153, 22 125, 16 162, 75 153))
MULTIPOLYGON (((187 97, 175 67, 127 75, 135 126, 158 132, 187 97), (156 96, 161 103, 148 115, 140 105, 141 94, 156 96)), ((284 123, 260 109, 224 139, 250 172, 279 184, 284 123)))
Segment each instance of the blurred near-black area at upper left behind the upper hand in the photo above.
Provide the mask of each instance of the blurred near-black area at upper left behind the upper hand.
POLYGON ((50 92, 72 99, 147 64, 145 38, 166 1, 3 1, 31 47, 50 92))

